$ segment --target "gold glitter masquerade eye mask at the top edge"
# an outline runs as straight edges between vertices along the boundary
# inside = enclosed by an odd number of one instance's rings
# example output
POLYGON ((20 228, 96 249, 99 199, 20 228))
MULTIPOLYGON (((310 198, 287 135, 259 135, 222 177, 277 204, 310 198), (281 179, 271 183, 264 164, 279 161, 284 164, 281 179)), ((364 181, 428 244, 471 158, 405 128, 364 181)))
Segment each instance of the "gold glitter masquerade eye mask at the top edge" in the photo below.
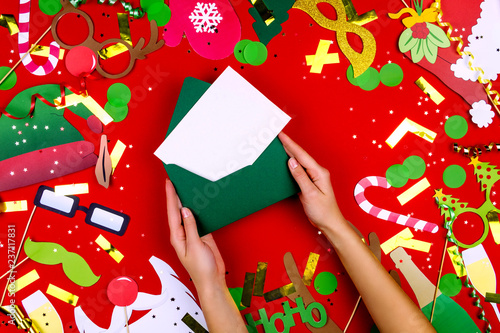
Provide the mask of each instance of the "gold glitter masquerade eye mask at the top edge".
POLYGON ((349 59, 354 71, 354 77, 363 74, 373 63, 377 44, 375 37, 366 28, 350 23, 346 18, 346 11, 342 0, 297 0, 292 8, 300 9, 309 14, 316 23, 323 28, 336 32, 337 43, 340 50, 349 59), (337 12, 337 20, 327 18, 318 9, 318 4, 326 2, 337 12), (347 40, 347 33, 351 32, 359 38, 363 44, 363 51, 356 52, 347 40))

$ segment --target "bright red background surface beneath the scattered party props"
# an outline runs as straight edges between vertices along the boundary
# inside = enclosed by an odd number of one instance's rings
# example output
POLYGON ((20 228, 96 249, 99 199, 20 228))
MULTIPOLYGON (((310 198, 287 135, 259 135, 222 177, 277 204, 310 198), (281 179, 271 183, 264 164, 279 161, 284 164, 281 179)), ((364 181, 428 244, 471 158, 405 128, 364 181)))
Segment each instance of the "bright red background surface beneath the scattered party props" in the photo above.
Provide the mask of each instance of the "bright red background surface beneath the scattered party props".
MULTIPOLYGON (((94 38, 99 42, 108 38, 119 38, 116 13, 123 12, 122 6, 88 2, 80 9, 87 12, 94 22, 96 29, 94 38)), ((258 40, 251 26, 253 18, 248 13, 248 9, 251 8, 250 2, 237 0, 231 3, 241 21, 242 39, 258 40)), ((452 23, 460 30, 462 27, 465 28, 461 31, 464 40, 479 15, 479 3, 479 1, 453 2, 454 7, 446 5, 444 7, 445 20, 446 15, 450 17, 461 15, 460 20, 452 23)), ((132 1, 132 4, 138 6, 139 1, 132 1)), ((403 8, 401 2, 358 0, 354 2, 354 6, 358 13, 365 13, 371 9, 377 12, 378 19, 365 25, 375 36, 377 43, 377 53, 372 67, 380 70, 389 61, 399 64, 404 71, 404 80, 399 86, 386 87, 380 84, 373 91, 364 91, 351 85, 345 76, 349 62, 335 42, 336 33, 318 26, 306 13, 297 9, 288 12, 289 20, 282 24, 282 33, 268 44, 269 57, 261 66, 242 65, 234 56, 217 61, 204 59, 190 49, 188 40, 183 39, 178 47, 164 46, 159 51, 149 54, 145 60, 137 61, 133 71, 122 79, 89 80, 88 92, 102 106, 107 101, 106 91, 111 84, 122 82, 132 91, 127 118, 122 122, 106 126, 104 130, 111 141, 110 149, 116 140, 121 140, 127 145, 113 175, 111 186, 105 189, 98 185, 93 168, 44 184, 54 187, 62 184, 89 183, 90 193, 80 195, 81 205, 88 206, 96 202, 116 210, 123 210, 130 215, 131 222, 125 235, 120 237, 85 224, 82 213, 77 213, 73 219, 68 219, 38 209, 28 236, 35 241, 57 242, 67 250, 79 253, 87 260, 93 271, 102 276, 97 284, 83 288, 70 282, 60 267, 27 261, 18 268, 17 277, 36 269, 41 278, 16 294, 17 303, 20 305, 23 298, 38 289, 45 292, 47 285, 52 283, 78 295, 80 297, 78 304, 89 317, 96 324, 107 327, 113 306, 105 296, 105 288, 114 277, 128 275, 138 282, 139 291, 159 293, 159 280, 148 262, 152 255, 169 263, 178 273, 180 280, 190 290, 195 291, 188 274, 169 244, 164 194, 166 172, 153 152, 165 137, 183 79, 192 76, 212 83, 227 66, 235 68, 292 117, 285 131, 331 171, 333 186, 342 212, 365 237, 369 232, 375 231, 381 242, 384 242, 403 228, 362 211, 353 197, 356 183, 366 176, 384 176, 389 166, 402 163, 410 155, 418 155, 425 160, 428 167, 424 176, 429 180, 431 188, 404 206, 399 204, 396 196, 417 180, 410 180, 400 189, 371 188, 367 190, 368 200, 379 207, 404 215, 411 214, 438 225, 442 225, 443 218, 432 198, 433 189, 444 188, 446 194, 452 194, 468 202, 472 207, 482 204, 484 194, 480 192, 479 185, 475 181, 473 168, 467 166, 468 158, 453 152, 454 140, 444 133, 444 122, 446 117, 455 114, 464 116, 469 122, 469 131, 459 143, 487 144, 497 138, 499 124, 497 116, 488 128, 479 129, 470 121, 469 106, 460 96, 399 52, 397 40, 404 26, 399 20, 389 19, 387 12, 397 12, 403 8), (305 64, 305 55, 316 52, 320 39, 334 41, 329 52, 338 52, 340 63, 325 65, 321 74, 313 74, 309 72, 310 67, 305 64), (414 84, 420 76, 426 78, 445 96, 446 99, 439 106, 426 99, 414 84), (394 149, 391 149, 385 140, 405 117, 437 132, 434 143, 408 134, 394 149), (461 165, 467 171, 466 183, 458 189, 447 188, 442 180, 444 169, 451 164, 461 165), (99 234, 103 234, 125 255, 119 264, 104 251, 99 251, 94 243, 99 234)), ((16 1, 4 1, 0 7, 1 13, 14 14, 17 17, 16 1)), ((330 9, 329 12, 333 13, 333 10, 330 9)), ((34 42, 51 24, 52 18, 39 11, 37 1, 32 3, 31 14, 30 42, 34 42)), ((335 16, 334 13, 332 15, 335 16)), ((140 37, 149 40, 147 18, 134 19, 130 23, 130 29, 134 44, 140 37)), ((86 36, 85 31, 78 32, 71 25, 68 25, 64 34, 69 38, 76 38, 76 35, 80 38, 86 36)), ((48 45, 51 41, 52 37, 49 34, 41 44, 48 45)), ((356 43, 356 38, 353 37, 351 41, 356 43)), ((19 59, 17 35, 10 36, 6 29, 0 29, 0 45, 2 45, 0 65, 12 66, 19 59), (13 62, 10 63, 9 60, 13 62)), ((37 58, 35 61, 43 63, 45 59, 37 58)), ((63 82, 78 84, 78 80, 68 73, 62 61, 46 76, 31 75, 22 65, 16 69, 16 74, 18 77, 16 86, 11 90, 0 92, 2 108, 17 93, 35 85, 63 82)), ((66 115, 68 113, 70 112, 66 111, 66 115)), ((84 137, 98 147, 99 135, 90 132, 84 121, 77 126, 84 137)), ((493 165, 500 163, 496 151, 484 155, 481 160, 491 162, 493 165)), ((0 193, 0 201, 28 200, 29 202, 26 212, 0 215, 0 244, 3 245, 0 247, 0 258, 4 258, 0 259, 2 274, 7 270, 7 225, 16 225, 16 245, 20 246, 21 236, 33 208, 33 198, 39 185, 0 193)), ((495 201, 494 196, 492 201, 495 201)), ((474 235, 479 237, 482 233, 480 219, 473 216, 469 221, 473 222, 457 225, 457 235, 460 233, 462 237, 474 235)), ((431 251, 423 253, 407 250, 407 252, 422 272, 436 283, 444 245, 444 229, 440 229, 436 234, 420 231, 414 234, 416 239, 431 242, 431 251)), ((214 237, 225 260, 229 287, 242 287, 245 272, 254 272, 257 263, 264 261, 268 263, 265 291, 278 288, 290 282, 283 266, 283 255, 286 252, 292 252, 299 271, 304 269, 309 252, 318 253, 320 261, 316 274, 323 271, 334 273, 338 278, 338 287, 335 293, 328 296, 318 294, 312 286, 309 287, 310 291, 316 300, 325 306, 329 316, 337 325, 342 329, 345 327, 358 294, 331 246, 307 221, 298 198, 290 198, 259 211, 216 231, 214 237)), ((488 235, 483 245, 489 253, 494 268, 500 267, 500 261, 494 255, 497 245, 491 235, 488 235)), ((24 253, 20 259, 23 258, 24 253)), ((388 255, 382 254, 382 264, 387 270, 395 269, 388 255)), ((443 275, 446 273, 454 273, 448 257, 445 258, 443 267, 443 275)), ((404 290, 415 299, 403 277, 402 283, 404 290)), ((453 299, 476 320, 478 327, 483 329, 484 322, 477 320, 478 309, 473 306, 468 293, 469 291, 464 288, 453 299)), ((59 312, 65 331, 76 332, 73 306, 51 296, 48 297, 59 312)), ((273 313, 282 312, 282 301, 266 304, 262 298, 253 297, 252 307, 243 313, 252 312, 255 318, 257 310, 266 307, 270 317, 273 313)), ((500 328, 491 306, 484 303, 484 307, 493 328, 500 328)), ((134 313, 131 322, 140 316, 142 313, 134 313)), ((3 316, 2 320, 7 320, 7 317, 3 316)), ((292 332, 306 332, 307 329, 300 323, 298 316, 295 320, 297 326, 292 328, 292 332)), ((369 314, 361 305, 349 331, 369 332, 372 324, 369 314)), ((11 327, 11 331, 16 330, 11 327)))

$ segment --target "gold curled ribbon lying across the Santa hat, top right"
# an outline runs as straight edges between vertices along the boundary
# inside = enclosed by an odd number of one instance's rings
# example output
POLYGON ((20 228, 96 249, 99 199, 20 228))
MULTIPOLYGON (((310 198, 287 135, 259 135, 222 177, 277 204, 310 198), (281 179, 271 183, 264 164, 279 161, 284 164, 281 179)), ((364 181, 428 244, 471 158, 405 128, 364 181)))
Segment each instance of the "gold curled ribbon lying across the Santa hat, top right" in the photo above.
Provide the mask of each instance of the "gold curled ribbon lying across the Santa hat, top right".
POLYGON ((448 39, 450 41, 452 41, 452 42, 458 42, 457 53, 459 55, 461 55, 461 56, 463 56, 463 55, 468 55, 469 56, 469 61, 467 62, 467 65, 469 65, 469 69, 471 69, 472 71, 475 71, 475 72, 479 72, 479 76, 477 77, 477 79, 483 85, 486 84, 486 87, 483 86, 484 90, 486 91, 486 95, 490 99, 491 103, 493 104, 493 106, 495 107, 495 109, 497 110, 497 112, 500 114, 500 111, 497 108, 497 105, 500 105, 500 94, 498 93, 498 91, 492 89, 493 84, 491 83, 491 81, 488 80, 488 79, 485 79, 483 77, 484 76, 483 69, 481 67, 473 67, 472 66, 472 62, 474 60, 474 56, 472 55, 471 52, 469 52, 469 51, 463 51, 462 50, 462 47, 464 46, 462 38, 460 36, 458 36, 458 37, 452 37, 451 36, 451 33, 453 32, 453 27, 451 26, 451 24, 449 22, 443 22, 443 20, 442 20, 442 18, 443 18, 443 11, 441 10, 441 0, 436 0, 435 2, 433 2, 431 4, 431 7, 435 7, 436 8, 436 12, 438 13, 436 21, 439 24, 439 26, 447 28, 447 30, 446 30, 446 36, 448 37, 448 39))

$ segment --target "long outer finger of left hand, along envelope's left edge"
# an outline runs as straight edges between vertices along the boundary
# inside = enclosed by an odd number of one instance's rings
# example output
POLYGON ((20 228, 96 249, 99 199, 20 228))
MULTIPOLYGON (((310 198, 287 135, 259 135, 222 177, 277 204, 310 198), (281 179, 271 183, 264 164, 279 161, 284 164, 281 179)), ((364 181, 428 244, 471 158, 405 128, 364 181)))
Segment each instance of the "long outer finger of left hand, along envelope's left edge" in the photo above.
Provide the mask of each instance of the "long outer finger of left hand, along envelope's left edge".
POLYGON ((174 184, 167 179, 165 182, 165 191, 167 193, 167 217, 168 227, 170 228, 170 243, 178 252, 184 246, 183 242, 186 239, 184 228, 182 227, 182 219, 179 212, 179 197, 175 192, 174 184))

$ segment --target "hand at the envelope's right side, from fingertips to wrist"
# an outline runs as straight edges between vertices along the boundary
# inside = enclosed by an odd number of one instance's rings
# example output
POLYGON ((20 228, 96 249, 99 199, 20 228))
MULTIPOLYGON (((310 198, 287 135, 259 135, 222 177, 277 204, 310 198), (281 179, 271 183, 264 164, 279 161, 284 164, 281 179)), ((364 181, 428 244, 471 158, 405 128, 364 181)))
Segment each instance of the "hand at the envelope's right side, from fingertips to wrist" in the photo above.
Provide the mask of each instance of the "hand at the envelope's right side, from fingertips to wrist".
POLYGON ((288 135, 278 135, 290 159, 288 167, 300 187, 300 201, 309 221, 321 231, 345 221, 333 193, 330 173, 288 135))

